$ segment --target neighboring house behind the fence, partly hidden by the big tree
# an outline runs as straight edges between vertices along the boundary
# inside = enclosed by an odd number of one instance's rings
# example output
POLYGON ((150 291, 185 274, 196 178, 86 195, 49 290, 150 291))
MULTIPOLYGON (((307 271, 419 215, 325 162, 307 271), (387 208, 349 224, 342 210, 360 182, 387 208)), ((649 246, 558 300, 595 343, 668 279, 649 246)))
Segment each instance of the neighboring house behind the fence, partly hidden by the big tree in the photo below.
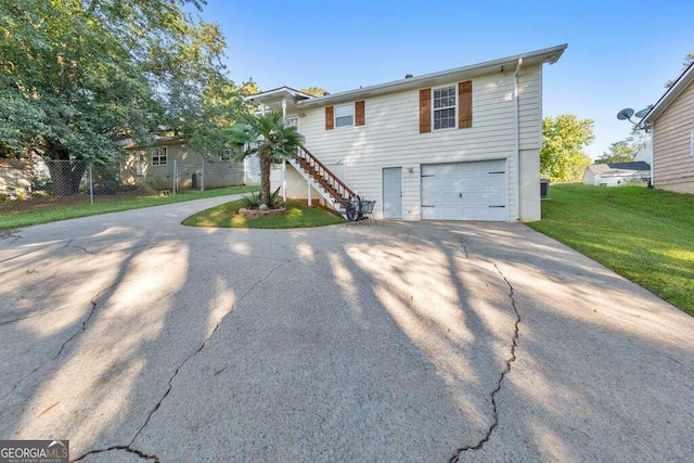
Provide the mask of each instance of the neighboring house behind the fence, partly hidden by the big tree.
POLYGON ((146 183, 157 190, 171 190, 177 172, 177 189, 260 184, 257 157, 237 163, 224 156, 202 156, 192 152, 182 137, 162 137, 146 149, 133 144, 126 149, 130 154, 121 173, 127 184, 146 183))

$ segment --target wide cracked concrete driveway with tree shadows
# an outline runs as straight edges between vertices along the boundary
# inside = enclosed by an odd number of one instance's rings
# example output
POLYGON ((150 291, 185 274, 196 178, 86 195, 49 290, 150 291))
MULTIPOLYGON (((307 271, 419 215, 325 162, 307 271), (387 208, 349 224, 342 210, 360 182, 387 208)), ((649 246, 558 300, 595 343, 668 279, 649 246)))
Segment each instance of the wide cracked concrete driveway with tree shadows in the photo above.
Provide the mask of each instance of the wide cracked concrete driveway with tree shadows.
POLYGON ((0 240, 0 438, 86 462, 691 461, 694 319, 519 224, 0 240))

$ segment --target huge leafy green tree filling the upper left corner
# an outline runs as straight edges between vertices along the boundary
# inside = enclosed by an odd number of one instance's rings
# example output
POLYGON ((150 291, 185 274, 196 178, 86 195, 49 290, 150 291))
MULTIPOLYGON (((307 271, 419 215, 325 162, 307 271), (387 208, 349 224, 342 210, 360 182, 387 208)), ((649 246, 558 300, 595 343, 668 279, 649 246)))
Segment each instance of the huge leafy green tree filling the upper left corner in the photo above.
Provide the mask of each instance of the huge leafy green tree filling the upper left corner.
POLYGON ((197 0, 0 0, 0 155, 65 160, 57 194, 76 191, 85 163, 123 155, 162 127, 200 146, 233 119, 219 28, 184 11, 197 0))

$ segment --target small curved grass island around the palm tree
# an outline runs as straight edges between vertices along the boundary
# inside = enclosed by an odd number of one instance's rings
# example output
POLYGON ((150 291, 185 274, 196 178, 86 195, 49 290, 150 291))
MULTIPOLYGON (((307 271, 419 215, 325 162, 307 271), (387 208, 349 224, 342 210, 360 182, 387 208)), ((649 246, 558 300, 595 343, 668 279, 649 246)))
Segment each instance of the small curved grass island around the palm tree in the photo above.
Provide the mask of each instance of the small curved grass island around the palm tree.
POLYGON ((183 220, 182 223, 191 227, 293 229, 345 222, 345 219, 337 213, 322 207, 307 207, 305 204, 294 202, 286 204, 287 211, 283 216, 267 216, 253 219, 236 215, 242 207, 243 203, 241 201, 232 201, 231 203, 197 213, 183 220))

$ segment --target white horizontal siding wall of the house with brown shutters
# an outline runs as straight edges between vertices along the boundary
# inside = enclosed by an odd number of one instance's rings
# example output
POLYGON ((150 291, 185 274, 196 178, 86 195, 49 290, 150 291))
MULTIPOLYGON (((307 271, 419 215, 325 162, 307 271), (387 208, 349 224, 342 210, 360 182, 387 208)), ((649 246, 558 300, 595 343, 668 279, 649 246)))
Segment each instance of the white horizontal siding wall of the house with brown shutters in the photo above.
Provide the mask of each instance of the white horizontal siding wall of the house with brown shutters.
MULTIPOLYGON (((507 206, 512 211, 518 210, 514 70, 473 79, 472 128, 420 133, 419 90, 410 90, 367 98, 365 125, 359 127, 325 130, 324 107, 306 110, 300 131, 314 156, 331 169, 342 164, 342 178, 347 185, 367 200, 376 200, 376 216, 382 215, 384 167, 403 168, 403 219, 420 220, 422 164, 502 158, 509 159, 510 168, 507 206)), ((524 175, 524 184, 530 178, 538 180, 525 192, 537 190, 537 211, 529 211, 528 219, 539 217, 539 169, 535 157, 541 144, 540 77, 540 66, 525 68, 519 76, 520 149, 522 156, 528 156, 522 166, 532 170, 524 175)), ((532 207, 528 203, 523 209, 532 207)))

